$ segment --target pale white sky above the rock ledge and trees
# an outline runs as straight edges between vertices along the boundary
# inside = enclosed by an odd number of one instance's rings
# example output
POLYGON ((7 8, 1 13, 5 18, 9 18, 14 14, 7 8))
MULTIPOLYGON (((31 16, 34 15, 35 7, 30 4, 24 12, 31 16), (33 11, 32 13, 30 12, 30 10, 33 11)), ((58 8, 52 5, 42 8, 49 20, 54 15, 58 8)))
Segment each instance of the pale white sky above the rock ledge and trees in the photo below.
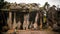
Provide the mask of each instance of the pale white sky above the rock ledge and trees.
MULTIPOLYGON (((43 6, 45 2, 48 2, 51 6, 52 5, 60 5, 60 0, 5 0, 10 3, 38 3, 40 6, 43 6)), ((60 6, 59 6, 60 7, 60 6)))

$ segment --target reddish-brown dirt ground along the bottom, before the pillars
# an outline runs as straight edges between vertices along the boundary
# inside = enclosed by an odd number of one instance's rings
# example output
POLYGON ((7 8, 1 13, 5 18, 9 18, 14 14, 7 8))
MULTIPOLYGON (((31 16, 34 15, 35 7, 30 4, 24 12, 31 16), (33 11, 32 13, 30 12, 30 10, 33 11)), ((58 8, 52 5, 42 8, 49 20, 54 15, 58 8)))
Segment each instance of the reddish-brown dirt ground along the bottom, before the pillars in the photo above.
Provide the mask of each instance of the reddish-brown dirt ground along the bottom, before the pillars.
MULTIPOLYGON (((14 34, 13 30, 9 30, 8 34, 14 34)), ((16 34, 59 34, 58 32, 53 31, 31 31, 31 30, 17 30, 16 34)))

